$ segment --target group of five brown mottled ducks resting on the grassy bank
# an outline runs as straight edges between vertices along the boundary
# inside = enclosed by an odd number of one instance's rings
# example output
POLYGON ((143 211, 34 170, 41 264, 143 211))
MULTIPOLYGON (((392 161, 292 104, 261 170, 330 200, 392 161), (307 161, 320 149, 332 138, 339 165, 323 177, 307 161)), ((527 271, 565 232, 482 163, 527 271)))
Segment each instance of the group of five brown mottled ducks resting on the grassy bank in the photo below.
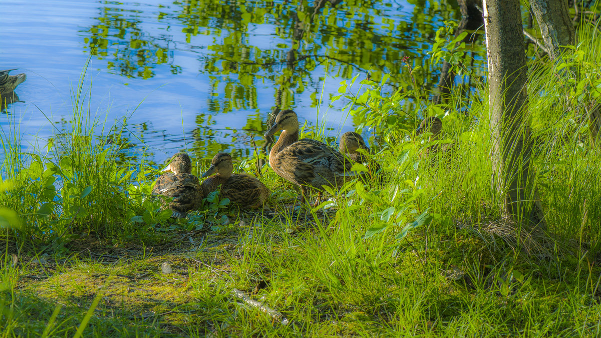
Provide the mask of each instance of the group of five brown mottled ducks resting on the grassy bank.
MULTIPOLYGON (((338 150, 332 149, 320 141, 303 138, 299 140, 299 122, 296 113, 290 109, 279 112, 273 126, 265 133, 271 136, 282 131, 278 141, 269 152, 269 165, 276 174, 301 188, 301 203, 307 201, 311 191, 316 190, 317 206, 322 198, 323 187, 337 189, 345 182, 357 177, 373 176, 379 165, 371 161, 365 153, 370 149, 356 132, 346 132, 340 138, 338 150), (364 151, 359 151, 362 149, 364 151), (353 171, 355 163, 365 165, 369 173, 353 171)), ((438 117, 425 118, 417 134, 432 132, 432 138, 438 138, 442 131, 442 121, 438 117)), ((428 150, 436 151, 433 147, 428 150)), ((201 177, 207 177, 202 183, 192 175, 192 162, 186 153, 178 153, 171 158, 163 174, 156 180, 153 195, 169 198, 168 207, 174 217, 185 217, 201 206, 204 197, 219 190, 221 198, 240 209, 269 209, 267 197, 269 189, 255 177, 246 174, 234 174, 231 155, 218 153, 213 157, 211 167, 201 177)))

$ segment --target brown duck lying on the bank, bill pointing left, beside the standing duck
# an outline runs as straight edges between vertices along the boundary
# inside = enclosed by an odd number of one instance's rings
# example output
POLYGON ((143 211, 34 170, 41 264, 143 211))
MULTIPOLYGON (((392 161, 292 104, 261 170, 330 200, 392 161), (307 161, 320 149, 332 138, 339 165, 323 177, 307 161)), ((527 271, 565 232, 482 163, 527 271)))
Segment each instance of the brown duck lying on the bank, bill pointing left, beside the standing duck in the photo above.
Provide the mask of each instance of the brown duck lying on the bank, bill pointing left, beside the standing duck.
POLYGON ((221 198, 229 198, 230 202, 236 204, 240 209, 257 209, 262 207, 269 210, 267 197, 269 189, 260 180, 246 174, 233 174, 234 164, 231 155, 218 153, 213 156, 211 166, 201 177, 207 177, 203 181, 202 190, 205 196, 219 190, 221 198))

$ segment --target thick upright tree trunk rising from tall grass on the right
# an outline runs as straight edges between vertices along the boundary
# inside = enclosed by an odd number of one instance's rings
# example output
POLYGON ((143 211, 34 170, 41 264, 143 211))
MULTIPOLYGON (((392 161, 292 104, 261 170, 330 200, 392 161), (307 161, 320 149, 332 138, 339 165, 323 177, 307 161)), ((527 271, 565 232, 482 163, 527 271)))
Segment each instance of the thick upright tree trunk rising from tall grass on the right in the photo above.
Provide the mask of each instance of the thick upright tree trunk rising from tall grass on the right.
POLYGON ((504 212, 522 224, 546 229, 532 177, 520 3, 519 0, 483 0, 483 10, 495 187, 504 197, 504 212))

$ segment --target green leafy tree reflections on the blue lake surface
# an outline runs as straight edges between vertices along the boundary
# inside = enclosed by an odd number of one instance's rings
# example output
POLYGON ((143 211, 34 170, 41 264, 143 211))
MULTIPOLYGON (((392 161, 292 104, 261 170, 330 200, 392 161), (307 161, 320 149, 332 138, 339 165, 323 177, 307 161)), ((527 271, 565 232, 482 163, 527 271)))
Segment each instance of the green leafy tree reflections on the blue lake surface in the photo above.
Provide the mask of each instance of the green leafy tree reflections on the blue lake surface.
MULTIPOLYGON (((103 2, 96 23, 85 31, 87 48, 107 61, 109 71, 130 78, 151 78, 160 64, 180 72, 174 51, 197 55, 202 76, 210 79, 206 111, 198 112, 192 131, 194 148, 210 156, 228 150, 216 136, 231 137, 252 153, 246 131, 216 131, 212 115, 257 110, 257 88, 272 87, 274 110, 299 105, 295 96, 309 90, 317 107, 321 83, 327 76, 350 79, 361 73, 374 81, 390 73, 390 87, 410 88, 413 83, 400 62, 410 57, 422 66, 413 75, 427 92, 438 82, 426 51, 442 19, 454 19, 454 1, 408 0, 398 10, 396 2, 383 0, 292 0, 286 2, 185 0, 171 4, 127 7, 103 2), (410 16, 403 16, 410 13, 410 16), (163 31, 144 30, 154 20, 163 31)), ((476 65, 477 66, 477 65, 476 65)), ((335 88, 330 88, 335 93, 335 88)), ((324 97, 326 103, 329 97, 324 97)), ((412 108, 411 102, 407 111, 412 108)), ((249 114, 244 129, 255 131, 258 143, 266 129, 267 112, 249 114)))

